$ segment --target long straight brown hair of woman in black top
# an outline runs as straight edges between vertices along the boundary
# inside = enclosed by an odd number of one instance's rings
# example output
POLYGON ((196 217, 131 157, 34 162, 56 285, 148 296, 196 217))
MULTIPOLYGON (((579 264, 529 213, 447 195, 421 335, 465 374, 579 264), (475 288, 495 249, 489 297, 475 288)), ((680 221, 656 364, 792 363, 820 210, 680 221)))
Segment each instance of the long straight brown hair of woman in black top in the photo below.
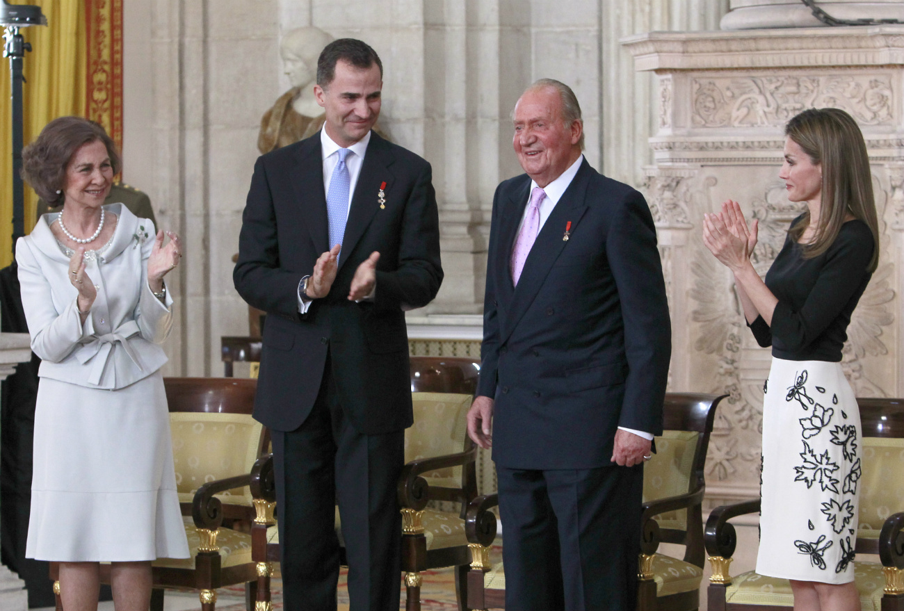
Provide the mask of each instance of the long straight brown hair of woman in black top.
MULTIPOLYGON (((804 258, 814 258, 832 246, 851 214, 872 232, 872 258, 867 270, 879 264, 879 221, 872 195, 870 157, 857 122, 839 108, 809 108, 788 121, 785 135, 800 146, 813 164, 823 166, 822 198, 814 238, 804 245, 804 258)), ((806 211, 788 233, 800 241, 810 224, 806 211)))

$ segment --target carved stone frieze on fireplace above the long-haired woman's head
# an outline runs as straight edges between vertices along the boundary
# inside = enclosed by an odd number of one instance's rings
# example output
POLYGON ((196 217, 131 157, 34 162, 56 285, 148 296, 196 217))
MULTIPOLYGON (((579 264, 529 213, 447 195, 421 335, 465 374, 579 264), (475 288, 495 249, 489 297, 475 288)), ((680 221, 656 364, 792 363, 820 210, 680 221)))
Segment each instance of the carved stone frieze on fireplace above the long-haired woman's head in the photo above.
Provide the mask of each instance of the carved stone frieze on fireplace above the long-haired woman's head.
POLYGON ((781 127, 805 108, 843 108, 862 125, 893 125, 887 74, 730 76, 692 80, 696 127, 781 127))

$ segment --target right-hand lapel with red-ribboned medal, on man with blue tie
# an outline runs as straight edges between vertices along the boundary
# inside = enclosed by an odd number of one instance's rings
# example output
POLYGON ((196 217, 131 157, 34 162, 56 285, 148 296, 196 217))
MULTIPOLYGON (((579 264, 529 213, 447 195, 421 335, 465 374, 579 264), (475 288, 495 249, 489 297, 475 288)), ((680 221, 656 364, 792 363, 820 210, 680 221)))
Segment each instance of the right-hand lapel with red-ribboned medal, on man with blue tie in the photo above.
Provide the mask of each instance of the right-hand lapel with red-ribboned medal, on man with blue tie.
POLYGON ((373 215, 380 210, 377 194, 380 192, 382 183, 386 183, 384 188, 386 199, 389 200, 392 197, 394 176, 388 169, 391 164, 392 156, 386 141, 373 132, 371 141, 367 145, 367 152, 364 154, 361 174, 358 174, 358 183, 354 187, 348 221, 345 223, 345 235, 342 240, 343 254, 339 258, 340 269, 350 258, 354 247, 364 235, 364 230, 371 224, 373 215))

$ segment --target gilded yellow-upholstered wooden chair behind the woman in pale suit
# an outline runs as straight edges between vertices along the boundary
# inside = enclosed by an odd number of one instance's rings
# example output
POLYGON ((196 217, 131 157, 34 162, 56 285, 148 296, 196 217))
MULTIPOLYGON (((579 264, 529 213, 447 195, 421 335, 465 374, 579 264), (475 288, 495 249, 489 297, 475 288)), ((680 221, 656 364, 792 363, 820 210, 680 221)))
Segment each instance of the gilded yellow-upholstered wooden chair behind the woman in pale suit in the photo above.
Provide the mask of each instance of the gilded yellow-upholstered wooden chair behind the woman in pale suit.
MULTIPOLYGON (((254 609, 258 569, 248 532, 226 523, 254 519, 251 468, 268 446, 268 432, 251 418, 256 380, 165 378, 170 410, 176 486, 191 557, 156 559, 152 564, 151 608, 163 609, 165 587, 199 590, 202 609, 213 611, 219 587, 246 584, 254 609)), ((58 566, 51 578, 62 610, 58 566)), ((109 565, 101 565, 109 583, 109 565)))

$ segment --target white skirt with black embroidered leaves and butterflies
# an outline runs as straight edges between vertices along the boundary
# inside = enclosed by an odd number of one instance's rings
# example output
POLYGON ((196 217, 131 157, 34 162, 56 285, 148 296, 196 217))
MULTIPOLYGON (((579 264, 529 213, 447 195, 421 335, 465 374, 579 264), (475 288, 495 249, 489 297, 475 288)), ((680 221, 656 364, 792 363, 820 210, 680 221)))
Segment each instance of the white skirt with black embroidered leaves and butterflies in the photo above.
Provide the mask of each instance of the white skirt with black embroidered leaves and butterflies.
POLYGON ((764 391, 757 572, 853 581, 862 431, 841 363, 773 358, 764 391))

